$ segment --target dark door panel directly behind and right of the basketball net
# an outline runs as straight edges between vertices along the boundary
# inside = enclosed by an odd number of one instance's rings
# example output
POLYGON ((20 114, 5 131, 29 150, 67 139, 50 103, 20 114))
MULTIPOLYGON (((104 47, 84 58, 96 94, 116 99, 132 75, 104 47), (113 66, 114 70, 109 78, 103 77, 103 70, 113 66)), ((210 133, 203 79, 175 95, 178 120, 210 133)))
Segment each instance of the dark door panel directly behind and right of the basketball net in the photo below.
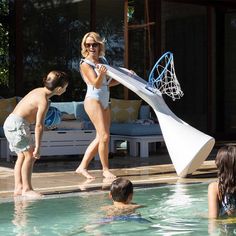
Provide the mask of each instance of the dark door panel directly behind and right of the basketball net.
POLYGON ((207 131, 207 8, 165 2, 162 5, 162 50, 174 55, 175 72, 184 96, 166 97, 173 112, 194 127, 207 131))

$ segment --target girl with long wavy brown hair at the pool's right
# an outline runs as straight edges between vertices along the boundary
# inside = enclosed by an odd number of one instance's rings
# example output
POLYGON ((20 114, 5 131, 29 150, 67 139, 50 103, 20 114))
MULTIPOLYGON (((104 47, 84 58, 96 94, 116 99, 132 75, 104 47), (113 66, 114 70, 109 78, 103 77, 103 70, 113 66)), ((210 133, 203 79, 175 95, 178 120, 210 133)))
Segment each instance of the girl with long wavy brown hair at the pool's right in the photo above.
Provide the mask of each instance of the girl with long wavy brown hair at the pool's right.
POLYGON ((218 181, 208 186, 208 216, 235 216, 236 214, 236 147, 219 149, 216 155, 218 181))

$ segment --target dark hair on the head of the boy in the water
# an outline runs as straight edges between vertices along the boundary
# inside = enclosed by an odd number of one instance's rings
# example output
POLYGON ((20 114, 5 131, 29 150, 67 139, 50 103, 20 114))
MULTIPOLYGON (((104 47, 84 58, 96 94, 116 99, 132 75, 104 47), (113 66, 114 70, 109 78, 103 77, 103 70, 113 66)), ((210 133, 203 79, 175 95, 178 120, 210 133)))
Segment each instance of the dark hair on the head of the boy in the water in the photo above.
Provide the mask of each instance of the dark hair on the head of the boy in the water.
POLYGON ((126 202, 130 194, 133 193, 133 184, 124 178, 115 179, 110 188, 113 201, 126 202))

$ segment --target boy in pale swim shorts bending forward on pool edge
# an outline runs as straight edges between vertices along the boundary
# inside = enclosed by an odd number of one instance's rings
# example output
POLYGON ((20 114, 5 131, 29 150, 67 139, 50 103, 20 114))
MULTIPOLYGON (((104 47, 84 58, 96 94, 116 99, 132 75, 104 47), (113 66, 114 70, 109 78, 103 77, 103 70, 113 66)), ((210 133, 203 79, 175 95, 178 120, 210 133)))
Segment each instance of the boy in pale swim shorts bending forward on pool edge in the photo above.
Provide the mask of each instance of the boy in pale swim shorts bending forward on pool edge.
POLYGON ((36 159, 40 158, 40 144, 49 98, 62 95, 68 83, 69 79, 65 72, 51 71, 43 79, 44 87, 36 88, 23 97, 4 122, 3 129, 10 150, 17 154, 14 167, 14 196, 42 196, 33 190, 32 169, 36 159), (35 143, 31 137, 30 124, 35 124, 35 143))

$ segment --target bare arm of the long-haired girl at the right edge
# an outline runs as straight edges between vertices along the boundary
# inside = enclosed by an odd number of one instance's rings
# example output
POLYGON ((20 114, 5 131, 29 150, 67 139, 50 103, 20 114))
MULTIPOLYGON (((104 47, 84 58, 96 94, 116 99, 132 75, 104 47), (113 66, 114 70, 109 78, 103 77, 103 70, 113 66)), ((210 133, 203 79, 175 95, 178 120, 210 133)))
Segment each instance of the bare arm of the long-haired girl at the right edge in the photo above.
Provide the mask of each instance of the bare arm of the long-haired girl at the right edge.
POLYGON ((213 182, 208 186, 208 217, 215 219, 219 216, 218 183, 213 182))

